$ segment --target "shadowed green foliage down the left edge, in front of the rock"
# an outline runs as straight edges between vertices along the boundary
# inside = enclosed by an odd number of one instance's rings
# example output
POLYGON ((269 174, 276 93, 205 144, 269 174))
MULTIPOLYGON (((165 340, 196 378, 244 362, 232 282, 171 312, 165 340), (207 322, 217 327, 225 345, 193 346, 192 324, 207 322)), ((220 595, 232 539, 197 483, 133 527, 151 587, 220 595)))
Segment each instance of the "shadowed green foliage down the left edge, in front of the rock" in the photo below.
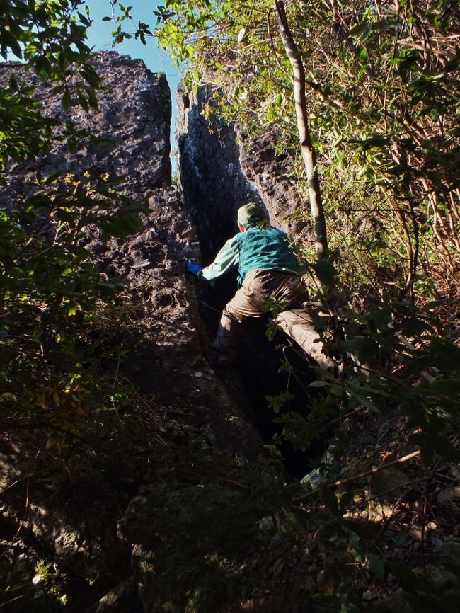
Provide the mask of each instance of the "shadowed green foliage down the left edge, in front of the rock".
MULTIPOLYGON (((77 129, 65 111, 71 105, 97 108, 100 79, 90 63, 85 40, 91 21, 81 1, 13 0, 1 4, 1 18, 1 54, 23 59, 40 80, 18 83, 10 64, 0 96, 0 398, 21 427, 33 416, 52 418, 50 449, 67 446, 74 418, 86 418, 82 374, 94 358, 81 345, 81 323, 115 292, 93 268, 83 246, 85 228, 96 224, 105 237, 125 236, 139 221, 129 212, 114 214, 126 205, 117 191, 120 179, 95 171, 29 172, 21 188, 13 188, 13 164, 30 163, 62 142, 71 151, 83 138, 98 146, 97 135, 77 129), (63 114, 43 113, 50 92, 61 96, 63 114)), ((13 418, 4 425, 15 423, 13 418)))

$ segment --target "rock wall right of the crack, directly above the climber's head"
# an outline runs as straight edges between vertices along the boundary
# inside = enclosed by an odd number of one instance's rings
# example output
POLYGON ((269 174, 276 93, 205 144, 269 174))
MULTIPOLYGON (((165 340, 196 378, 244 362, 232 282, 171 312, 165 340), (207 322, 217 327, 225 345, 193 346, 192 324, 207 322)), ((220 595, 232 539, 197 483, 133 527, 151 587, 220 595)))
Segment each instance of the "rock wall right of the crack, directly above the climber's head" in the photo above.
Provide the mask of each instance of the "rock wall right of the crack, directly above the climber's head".
POLYGON ((238 127, 220 121, 209 87, 194 96, 180 86, 177 98, 178 168, 205 262, 238 231, 236 211, 248 200, 263 204, 275 226, 301 235, 304 224, 285 219, 302 206, 287 154, 277 156, 268 139, 248 144, 238 127))

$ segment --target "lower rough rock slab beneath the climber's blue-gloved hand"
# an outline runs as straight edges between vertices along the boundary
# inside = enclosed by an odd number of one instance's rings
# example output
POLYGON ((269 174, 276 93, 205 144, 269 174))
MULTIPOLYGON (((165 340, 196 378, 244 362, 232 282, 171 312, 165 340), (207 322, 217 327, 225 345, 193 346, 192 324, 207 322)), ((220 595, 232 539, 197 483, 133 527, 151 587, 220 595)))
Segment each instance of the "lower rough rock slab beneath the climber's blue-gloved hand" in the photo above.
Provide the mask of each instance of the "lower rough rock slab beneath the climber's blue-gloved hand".
POLYGON ((183 407, 183 417, 217 452, 251 457, 258 437, 209 367, 209 339, 185 278, 185 260, 198 256, 196 235, 176 189, 156 190, 143 222, 139 234, 109 241, 109 251, 96 258, 100 268, 139 288, 150 305, 142 349, 125 367, 130 379, 144 391, 160 391, 163 403, 183 407))

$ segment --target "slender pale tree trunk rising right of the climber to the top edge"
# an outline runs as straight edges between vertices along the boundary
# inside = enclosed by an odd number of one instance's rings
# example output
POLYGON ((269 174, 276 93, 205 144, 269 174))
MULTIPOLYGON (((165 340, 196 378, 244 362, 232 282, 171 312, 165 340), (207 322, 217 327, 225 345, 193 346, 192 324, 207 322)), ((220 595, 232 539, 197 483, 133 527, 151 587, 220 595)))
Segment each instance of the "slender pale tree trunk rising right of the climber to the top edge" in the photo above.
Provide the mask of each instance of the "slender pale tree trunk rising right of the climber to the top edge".
POLYGON ((296 108, 297 130, 299 130, 300 150, 309 182, 310 210, 314 219, 314 238, 316 257, 321 260, 328 253, 328 239, 326 234, 326 219, 324 217, 321 189, 319 185, 318 168, 316 166, 316 154, 311 146, 309 132, 309 117, 306 110, 305 96, 305 70, 301 61, 299 50, 292 37, 289 24, 287 23, 284 2, 275 0, 278 30, 284 50, 292 66, 292 79, 294 82, 294 103, 296 108))

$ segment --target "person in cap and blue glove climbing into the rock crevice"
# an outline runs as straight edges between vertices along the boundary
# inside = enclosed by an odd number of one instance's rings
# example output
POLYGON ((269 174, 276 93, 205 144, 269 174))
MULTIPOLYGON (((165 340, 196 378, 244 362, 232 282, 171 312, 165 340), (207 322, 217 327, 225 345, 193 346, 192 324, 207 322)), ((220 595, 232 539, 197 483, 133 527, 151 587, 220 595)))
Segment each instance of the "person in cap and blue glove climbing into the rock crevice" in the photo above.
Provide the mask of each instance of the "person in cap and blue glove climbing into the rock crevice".
POLYGON ((268 302, 275 301, 282 311, 275 319, 280 327, 321 367, 333 367, 322 353, 318 333, 303 308, 307 296, 301 286, 302 267, 287 234, 271 227, 255 202, 238 209, 238 228, 238 234, 226 241, 212 264, 202 268, 195 260, 188 260, 186 265, 190 273, 208 281, 238 267, 238 290, 222 311, 213 343, 216 365, 234 362, 243 323, 263 316, 268 302))

